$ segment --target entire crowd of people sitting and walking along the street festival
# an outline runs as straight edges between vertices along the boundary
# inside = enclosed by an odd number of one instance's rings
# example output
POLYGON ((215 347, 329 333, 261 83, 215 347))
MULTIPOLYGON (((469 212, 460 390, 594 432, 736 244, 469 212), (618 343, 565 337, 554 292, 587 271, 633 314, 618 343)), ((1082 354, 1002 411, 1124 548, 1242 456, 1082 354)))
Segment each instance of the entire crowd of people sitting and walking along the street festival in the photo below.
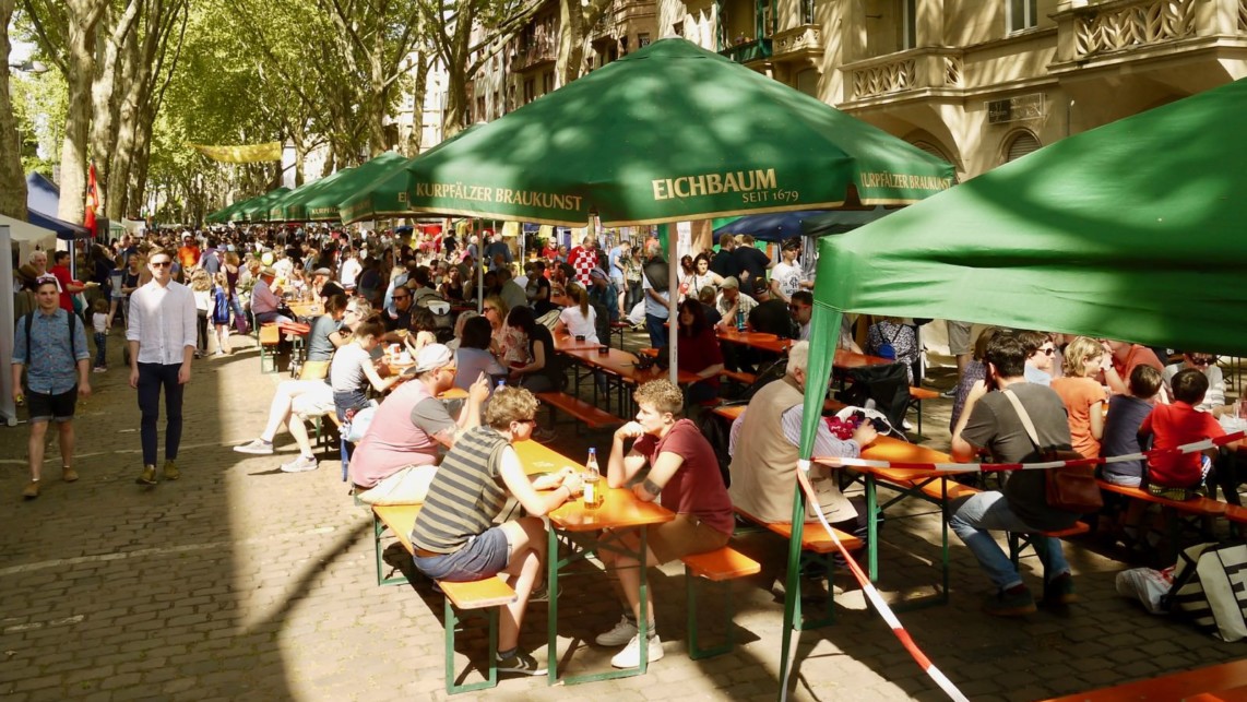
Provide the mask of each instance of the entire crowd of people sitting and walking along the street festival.
MULTIPOLYGON (((792 516, 814 282, 801 264, 799 241, 783 242, 779 261, 753 244, 748 236, 725 236, 717 251, 685 257, 675 281, 656 239, 621 241, 602 251, 592 236, 570 248, 549 242, 525 262, 516 261, 508 241, 488 234, 407 241, 388 232, 350 237, 256 228, 126 236, 110 247, 89 247, 79 266, 81 282, 70 274, 67 252, 52 254, 51 266, 46 253, 35 252, 17 271, 22 293, 12 367, 15 395, 29 400, 31 420, 24 496, 40 493, 49 423, 59 430, 62 480, 77 479, 74 409, 91 393, 90 369, 107 372, 113 325, 125 327, 123 358, 142 415, 137 483, 152 486, 181 475, 181 405, 195 359, 229 355, 231 337, 256 325, 297 333, 296 323, 306 323, 299 378, 277 387, 263 430, 234 450, 274 454, 284 428, 297 455, 282 470, 315 470, 306 421, 333 415, 349 424, 373 408, 349 460, 357 498, 424 505, 412 542, 414 565, 429 577, 506 577, 518 597, 501 617, 499 668, 540 675, 541 665, 518 648, 526 605, 544 587, 540 517, 576 499, 584 485, 570 470, 530 479, 514 444, 555 438, 537 425, 535 398, 566 383, 555 335, 600 343, 611 324, 627 320, 643 325, 650 344, 662 349, 675 333, 680 370, 697 375, 683 389, 667 380, 637 388, 637 414, 614 433, 606 456, 611 488, 630 488, 637 499, 661 500, 676 512, 673 521, 646 527, 645 564, 721 547, 732 534, 733 510, 763 521, 792 516), (678 314, 668 330, 671 296, 677 296, 678 314), (469 304, 475 299, 480 313, 469 304), (297 303, 318 304, 318 313, 299 322, 292 310, 297 303), (732 424, 726 476, 715 446, 685 409, 713 401, 725 369, 756 370, 773 355, 723 344, 717 328, 794 342, 783 372, 754 389, 732 424), (463 399, 444 400, 454 389, 463 399), (166 446, 157 475, 162 394, 166 446), (499 524, 509 499, 526 516, 499 524)), ((875 319, 864 334, 865 350, 904 364, 913 384, 922 377, 917 328, 924 322, 875 319)), ((1223 434, 1217 418, 1231 408, 1215 355, 1188 352, 1165 365, 1152 349, 1109 339, 988 328, 970 344, 968 328, 953 323, 950 332, 954 352, 966 352, 953 392, 958 460, 988 454, 1026 463, 1052 448, 1116 456, 1223 434)), ((837 345, 863 350, 848 325, 837 345)), ((819 423, 814 453, 855 458, 875 438, 870 423, 848 436, 819 423)), ((1226 453, 1112 463, 1102 478, 1171 499, 1221 486, 1227 500, 1238 502, 1237 468, 1226 453)), ((835 475, 816 469, 811 479, 818 500, 807 519, 822 511, 833 525, 860 532, 862 506, 840 493, 835 475)), ((1141 505, 1124 510, 1119 526, 1126 539, 1146 545, 1141 505)), ((985 608, 1001 616, 1034 611, 1035 597, 990 531, 1060 530, 1079 516, 1046 504, 1040 471, 1014 474, 1000 490, 978 493, 950 514, 950 527, 993 581, 985 608)), ((625 550, 640 550, 635 530, 616 536, 625 550)), ((1036 541, 1044 600, 1071 602, 1074 582, 1060 540, 1036 541)), ((600 557, 615 567, 624 615, 596 642, 624 646, 612 663, 631 667, 641 655, 638 559, 609 551, 600 557)), ((643 611, 651 620, 648 657, 656 661, 663 648, 653 602, 643 611)))

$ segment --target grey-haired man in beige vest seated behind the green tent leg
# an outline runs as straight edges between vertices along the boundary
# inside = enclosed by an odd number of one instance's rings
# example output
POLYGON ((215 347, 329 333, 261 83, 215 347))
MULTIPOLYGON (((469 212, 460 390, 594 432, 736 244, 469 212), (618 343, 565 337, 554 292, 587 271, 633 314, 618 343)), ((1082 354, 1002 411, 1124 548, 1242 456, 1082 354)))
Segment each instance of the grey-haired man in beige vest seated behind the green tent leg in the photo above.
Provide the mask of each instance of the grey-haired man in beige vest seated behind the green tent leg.
MULTIPOLYGON (((728 494, 733 505, 766 522, 792 520, 808 365, 809 342, 797 342, 788 352, 787 374, 758 390, 748 408, 732 423, 728 443, 732 488, 728 494), (742 441, 739 436, 749 439, 742 441)), ((862 448, 874 441, 875 435, 874 425, 863 421, 852 439, 842 441, 832 435, 826 423, 819 421, 814 455, 858 458, 862 448)), ((855 531, 857 509, 840 494, 832 469, 812 466, 809 480, 827 521, 842 531, 855 531)), ((807 505, 806 520, 817 519, 814 506, 807 505)))

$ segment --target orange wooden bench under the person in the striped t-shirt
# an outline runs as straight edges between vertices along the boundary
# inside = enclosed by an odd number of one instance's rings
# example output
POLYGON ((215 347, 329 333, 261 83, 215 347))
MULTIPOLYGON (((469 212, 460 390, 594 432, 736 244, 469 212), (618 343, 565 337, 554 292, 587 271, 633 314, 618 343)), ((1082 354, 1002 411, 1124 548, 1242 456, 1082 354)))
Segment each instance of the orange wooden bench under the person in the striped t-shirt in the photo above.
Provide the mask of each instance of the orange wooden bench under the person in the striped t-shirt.
MULTIPOLYGON (((420 514, 420 505, 373 505, 373 534, 377 549, 377 584, 395 585, 407 582, 407 577, 383 580, 380 537, 389 531, 403 545, 403 549, 412 556, 415 555, 415 546, 412 544, 412 529, 415 526, 415 517, 420 514)), ((498 611, 499 607, 515 601, 515 590, 503 579, 486 577, 471 582, 446 582, 436 581, 438 587, 445 595, 445 635, 446 635, 446 695, 471 692, 498 686, 498 611), (469 685, 455 685, 455 630, 459 628, 460 618, 458 612, 484 611, 489 620, 489 670, 485 680, 469 685)))

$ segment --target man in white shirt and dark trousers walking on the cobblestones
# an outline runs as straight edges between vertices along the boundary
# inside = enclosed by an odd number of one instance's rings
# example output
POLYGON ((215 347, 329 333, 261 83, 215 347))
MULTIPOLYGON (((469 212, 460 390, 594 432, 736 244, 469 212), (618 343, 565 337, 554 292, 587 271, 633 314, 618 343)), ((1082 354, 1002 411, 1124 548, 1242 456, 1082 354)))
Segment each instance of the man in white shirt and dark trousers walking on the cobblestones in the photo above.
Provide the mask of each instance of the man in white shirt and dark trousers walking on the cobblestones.
POLYGON ((138 390, 142 414, 143 470, 140 485, 156 484, 156 421, 165 390, 165 479, 177 480, 177 446, 182 440, 182 392, 191 382, 196 349, 195 296, 172 279, 173 256, 155 249, 147 257, 152 279, 130 296, 130 387, 138 390))

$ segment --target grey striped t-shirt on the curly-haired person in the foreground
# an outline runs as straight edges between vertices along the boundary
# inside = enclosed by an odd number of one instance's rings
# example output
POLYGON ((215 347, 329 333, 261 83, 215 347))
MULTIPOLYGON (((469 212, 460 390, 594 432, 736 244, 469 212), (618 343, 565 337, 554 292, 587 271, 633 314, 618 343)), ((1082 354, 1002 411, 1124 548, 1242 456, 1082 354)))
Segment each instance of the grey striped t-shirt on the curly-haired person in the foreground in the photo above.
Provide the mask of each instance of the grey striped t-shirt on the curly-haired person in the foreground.
POLYGON ((413 544, 435 554, 454 554, 494 525, 506 504, 499 474, 506 446, 506 438, 489 426, 475 426, 455 439, 433 474, 412 529, 413 544))

